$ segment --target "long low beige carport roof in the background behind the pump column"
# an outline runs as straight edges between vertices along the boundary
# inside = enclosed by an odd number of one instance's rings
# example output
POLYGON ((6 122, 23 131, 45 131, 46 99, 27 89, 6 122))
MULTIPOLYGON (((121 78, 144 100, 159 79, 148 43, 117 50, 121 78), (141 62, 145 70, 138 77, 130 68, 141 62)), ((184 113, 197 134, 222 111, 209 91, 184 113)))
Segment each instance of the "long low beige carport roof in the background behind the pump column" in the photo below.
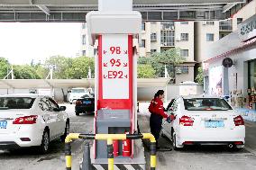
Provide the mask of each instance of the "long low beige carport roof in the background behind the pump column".
MULTIPOLYGON (((139 78, 138 87, 164 87, 169 78, 139 78)), ((73 88, 95 87, 95 79, 5 79, 0 80, 0 89, 32 89, 32 88, 73 88)))

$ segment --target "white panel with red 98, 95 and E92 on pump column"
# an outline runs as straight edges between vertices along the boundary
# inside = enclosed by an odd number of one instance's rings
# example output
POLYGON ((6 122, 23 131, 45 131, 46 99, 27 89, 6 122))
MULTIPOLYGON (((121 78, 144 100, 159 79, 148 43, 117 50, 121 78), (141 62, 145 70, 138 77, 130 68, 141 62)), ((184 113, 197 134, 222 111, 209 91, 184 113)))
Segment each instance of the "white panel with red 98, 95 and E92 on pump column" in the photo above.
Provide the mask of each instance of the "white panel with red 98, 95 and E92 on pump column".
POLYGON ((129 99, 128 35, 102 35, 103 99, 129 99))

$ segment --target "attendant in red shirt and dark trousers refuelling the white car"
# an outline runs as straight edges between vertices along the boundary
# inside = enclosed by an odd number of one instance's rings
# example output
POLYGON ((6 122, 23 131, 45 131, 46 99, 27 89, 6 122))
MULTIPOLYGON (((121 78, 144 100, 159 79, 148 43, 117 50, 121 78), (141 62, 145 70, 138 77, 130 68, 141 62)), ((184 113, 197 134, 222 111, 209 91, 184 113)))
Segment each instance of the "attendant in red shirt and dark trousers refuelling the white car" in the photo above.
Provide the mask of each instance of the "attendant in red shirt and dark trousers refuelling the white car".
POLYGON ((164 91, 159 90, 154 98, 151 100, 149 111, 151 112, 151 134, 156 139, 158 147, 158 139, 160 138, 161 123, 163 118, 168 118, 168 115, 164 112, 162 99, 164 98, 164 91))

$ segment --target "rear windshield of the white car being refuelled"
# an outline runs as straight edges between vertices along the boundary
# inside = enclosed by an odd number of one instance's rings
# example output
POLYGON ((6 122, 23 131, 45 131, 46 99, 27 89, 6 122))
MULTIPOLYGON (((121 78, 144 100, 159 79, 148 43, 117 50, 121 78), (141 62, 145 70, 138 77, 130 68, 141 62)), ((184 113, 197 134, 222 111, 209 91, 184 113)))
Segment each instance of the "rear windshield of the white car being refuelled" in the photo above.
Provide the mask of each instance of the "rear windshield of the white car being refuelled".
POLYGON ((184 99, 184 106, 187 111, 227 111, 232 107, 220 98, 191 98, 184 99))

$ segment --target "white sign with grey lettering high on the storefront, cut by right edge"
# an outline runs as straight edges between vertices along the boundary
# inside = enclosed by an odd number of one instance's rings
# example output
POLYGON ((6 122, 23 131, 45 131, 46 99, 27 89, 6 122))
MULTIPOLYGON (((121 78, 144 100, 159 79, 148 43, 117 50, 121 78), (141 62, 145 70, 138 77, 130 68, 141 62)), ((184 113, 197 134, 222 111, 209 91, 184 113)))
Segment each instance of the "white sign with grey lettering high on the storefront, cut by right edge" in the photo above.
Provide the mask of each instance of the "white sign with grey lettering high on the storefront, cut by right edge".
POLYGON ((242 41, 249 40, 256 36, 256 14, 241 23, 241 26, 239 27, 239 36, 242 41))

